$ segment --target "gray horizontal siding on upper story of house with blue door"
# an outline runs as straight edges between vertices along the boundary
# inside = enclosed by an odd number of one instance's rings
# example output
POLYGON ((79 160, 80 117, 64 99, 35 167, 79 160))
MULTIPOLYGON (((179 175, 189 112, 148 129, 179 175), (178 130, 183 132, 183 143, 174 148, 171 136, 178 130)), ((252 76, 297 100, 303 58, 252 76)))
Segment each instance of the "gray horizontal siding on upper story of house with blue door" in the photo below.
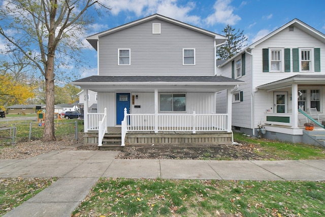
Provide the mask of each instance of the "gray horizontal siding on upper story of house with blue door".
POLYGON ((99 75, 214 75, 214 38, 155 19, 99 39, 99 75), (161 34, 152 34, 160 23, 161 34), (183 66, 183 48, 193 48, 196 65, 183 66), (118 49, 131 49, 131 65, 118 65, 118 49))

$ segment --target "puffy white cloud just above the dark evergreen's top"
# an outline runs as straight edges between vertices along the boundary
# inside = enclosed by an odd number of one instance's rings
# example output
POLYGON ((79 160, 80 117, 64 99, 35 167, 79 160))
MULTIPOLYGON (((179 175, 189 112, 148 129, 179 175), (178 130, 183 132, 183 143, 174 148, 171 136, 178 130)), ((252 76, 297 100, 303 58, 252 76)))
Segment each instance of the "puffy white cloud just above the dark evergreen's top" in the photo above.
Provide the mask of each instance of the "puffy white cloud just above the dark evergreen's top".
POLYGON ((234 7, 230 5, 231 0, 217 0, 213 8, 215 12, 206 18, 206 22, 209 25, 215 23, 223 23, 234 25, 237 21, 241 20, 238 15, 235 15, 234 7))

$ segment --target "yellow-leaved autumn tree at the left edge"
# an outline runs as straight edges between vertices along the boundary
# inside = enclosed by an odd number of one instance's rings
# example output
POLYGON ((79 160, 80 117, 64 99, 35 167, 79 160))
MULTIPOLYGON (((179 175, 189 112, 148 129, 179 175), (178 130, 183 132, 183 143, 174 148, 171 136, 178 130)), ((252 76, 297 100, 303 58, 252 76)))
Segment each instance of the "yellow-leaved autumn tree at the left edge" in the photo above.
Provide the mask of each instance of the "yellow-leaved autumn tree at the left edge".
POLYGON ((22 104, 34 97, 33 86, 15 81, 8 73, 0 73, 0 81, 0 110, 5 111, 8 105, 22 104))

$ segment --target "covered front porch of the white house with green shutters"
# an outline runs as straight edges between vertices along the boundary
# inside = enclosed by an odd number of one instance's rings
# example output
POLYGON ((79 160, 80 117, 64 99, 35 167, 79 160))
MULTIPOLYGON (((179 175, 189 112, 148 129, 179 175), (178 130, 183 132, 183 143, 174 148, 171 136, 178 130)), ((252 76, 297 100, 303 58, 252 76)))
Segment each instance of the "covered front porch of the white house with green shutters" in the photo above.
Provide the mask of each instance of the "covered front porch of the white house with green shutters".
POLYGON ((324 86, 323 74, 300 74, 258 86, 258 91, 265 91, 272 108, 263 114, 260 127, 268 132, 264 137, 274 139, 278 135, 276 139, 304 142, 306 122, 313 122, 315 132, 325 135, 324 86))

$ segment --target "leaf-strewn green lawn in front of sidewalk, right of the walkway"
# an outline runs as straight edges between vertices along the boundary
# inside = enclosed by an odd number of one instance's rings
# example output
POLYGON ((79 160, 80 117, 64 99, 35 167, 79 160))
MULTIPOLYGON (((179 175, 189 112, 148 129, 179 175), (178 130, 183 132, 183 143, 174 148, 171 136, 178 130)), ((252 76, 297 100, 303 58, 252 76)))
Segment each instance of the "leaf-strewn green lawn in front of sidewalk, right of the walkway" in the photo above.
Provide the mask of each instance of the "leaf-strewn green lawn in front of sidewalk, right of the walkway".
POLYGON ((101 178, 73 216, 325 216, 325 182, 101 178))

